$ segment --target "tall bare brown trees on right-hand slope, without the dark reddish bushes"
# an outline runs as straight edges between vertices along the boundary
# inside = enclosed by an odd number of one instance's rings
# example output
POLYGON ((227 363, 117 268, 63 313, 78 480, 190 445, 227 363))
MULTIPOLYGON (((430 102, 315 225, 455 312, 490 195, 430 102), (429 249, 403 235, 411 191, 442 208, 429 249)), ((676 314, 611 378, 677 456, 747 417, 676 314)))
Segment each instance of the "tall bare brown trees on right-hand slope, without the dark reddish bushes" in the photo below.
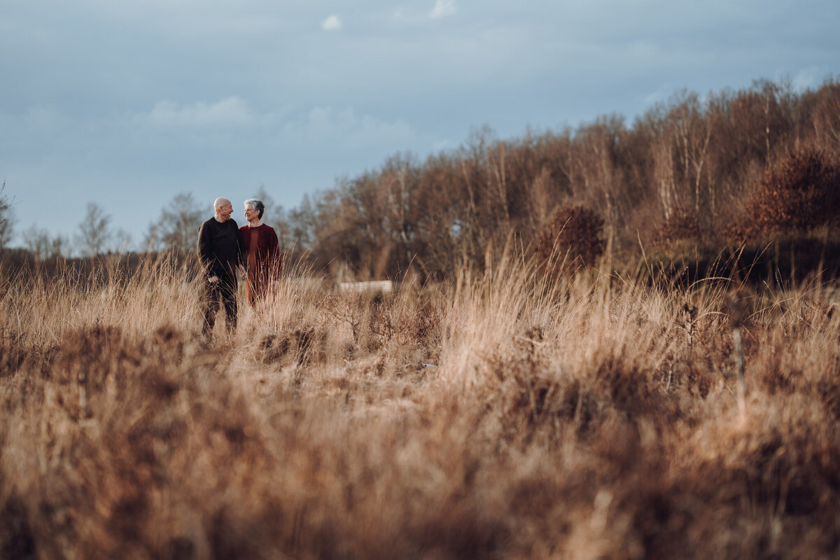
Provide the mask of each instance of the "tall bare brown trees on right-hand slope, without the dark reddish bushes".
MULTIPOLYGON (((761 218, 745 212, 768 170, 803 150, 829 167, 840 161, 837 81, 805 92, 764 80, 705 97, 684 91, 632 125, 609 115, 518 139, 479 128, 423 162, 397 154, 307 201, 306 232, 318 264, 361 278, 444 277, 511 238, 536 252, 575 207, 596 215, 582 223, 598 224, 592 235, 616 255, 737 243, 732 224, 761 218)), ((821 188, 840 191, 833 170, 821 188)))

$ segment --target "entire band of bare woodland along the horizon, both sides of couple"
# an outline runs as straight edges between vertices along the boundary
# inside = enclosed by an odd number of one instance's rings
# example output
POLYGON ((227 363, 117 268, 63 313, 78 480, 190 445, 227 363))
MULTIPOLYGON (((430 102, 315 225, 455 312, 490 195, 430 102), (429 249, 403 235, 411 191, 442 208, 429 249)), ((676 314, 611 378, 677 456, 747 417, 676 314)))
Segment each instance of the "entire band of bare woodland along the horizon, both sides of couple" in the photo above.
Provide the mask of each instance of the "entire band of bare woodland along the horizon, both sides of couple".
MULTIPOLYGON (((297 208, 277 206, 270 190, 255 195, 286 249, 358 280, 442 280, 512 243, 549 268, 640 254, 697 259, 780 239, 819 240, 824 260, 840 237, 840 81, 804 92, 765 80, 678 92, 633 123, 608 115, 512 139, 476 128, 458 149, 423 161, 392 155, 297 208)), ((189 255, 205 206, 176 196, 134 247, 189 255)), ((0 191, 0 249, 9 212, 0 191)), ((119 251, 129 238, 111 226, 92 204, 75 238, 34 229, 6 258, 119 251)))

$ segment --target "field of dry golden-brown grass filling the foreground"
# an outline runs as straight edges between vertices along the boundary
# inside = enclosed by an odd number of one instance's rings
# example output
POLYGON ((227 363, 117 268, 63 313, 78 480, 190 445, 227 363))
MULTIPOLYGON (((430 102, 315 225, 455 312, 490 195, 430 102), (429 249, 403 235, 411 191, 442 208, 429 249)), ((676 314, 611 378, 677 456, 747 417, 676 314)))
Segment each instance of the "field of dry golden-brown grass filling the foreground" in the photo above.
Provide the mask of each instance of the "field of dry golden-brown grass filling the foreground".
POLYGON ((488 270, 209 343, 164 262, 3 270, 0 557, 840 554, 831 290, 488 270))

